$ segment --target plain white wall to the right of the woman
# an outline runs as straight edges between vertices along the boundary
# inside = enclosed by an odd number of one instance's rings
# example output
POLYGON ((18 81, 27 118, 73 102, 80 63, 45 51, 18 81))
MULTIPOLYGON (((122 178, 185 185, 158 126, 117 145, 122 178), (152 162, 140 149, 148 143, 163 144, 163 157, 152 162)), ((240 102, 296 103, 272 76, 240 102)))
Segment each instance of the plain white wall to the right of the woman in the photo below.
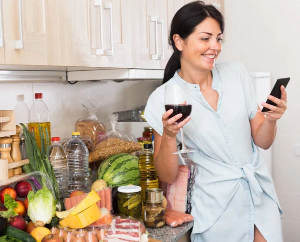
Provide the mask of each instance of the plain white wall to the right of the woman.
POLYGON ((287 110, 278 121, 272 174, 283 209, 285 242, 300 241, 299 0, 224 0, 225 34, 219 62, 238 60, 249 71, 268 71, 272 83, 290 77, 287 110))

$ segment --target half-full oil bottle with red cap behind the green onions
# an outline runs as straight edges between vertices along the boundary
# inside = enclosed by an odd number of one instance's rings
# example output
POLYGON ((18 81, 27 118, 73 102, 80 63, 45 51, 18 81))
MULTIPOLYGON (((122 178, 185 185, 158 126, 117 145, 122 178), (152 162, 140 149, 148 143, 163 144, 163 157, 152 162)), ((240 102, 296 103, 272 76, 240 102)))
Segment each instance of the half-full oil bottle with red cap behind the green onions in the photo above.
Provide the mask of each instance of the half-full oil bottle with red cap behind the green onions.
POLYGON ((34 94, 35 101, 29 112, 29 132, 34 133, 36 144, 40 150, 40 137, 38 132, 38 125, 41 126, 44 134, 45 128, 48 130, 49 139, 45 140, 45 145, 48 143, 51 144, 51 130, 50 130, 50 114, 47 106, 42 100, 42 93, 34 94))

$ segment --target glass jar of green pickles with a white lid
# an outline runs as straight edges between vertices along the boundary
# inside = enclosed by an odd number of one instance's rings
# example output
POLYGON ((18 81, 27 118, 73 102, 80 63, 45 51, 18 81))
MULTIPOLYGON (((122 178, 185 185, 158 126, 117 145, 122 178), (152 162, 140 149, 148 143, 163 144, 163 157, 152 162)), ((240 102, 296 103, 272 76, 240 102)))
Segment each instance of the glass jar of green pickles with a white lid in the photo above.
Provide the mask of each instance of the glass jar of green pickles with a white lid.
POLYGON ((121 217, 141 219, 141 187, 121 186, 117 188, 117 209, 121 217))

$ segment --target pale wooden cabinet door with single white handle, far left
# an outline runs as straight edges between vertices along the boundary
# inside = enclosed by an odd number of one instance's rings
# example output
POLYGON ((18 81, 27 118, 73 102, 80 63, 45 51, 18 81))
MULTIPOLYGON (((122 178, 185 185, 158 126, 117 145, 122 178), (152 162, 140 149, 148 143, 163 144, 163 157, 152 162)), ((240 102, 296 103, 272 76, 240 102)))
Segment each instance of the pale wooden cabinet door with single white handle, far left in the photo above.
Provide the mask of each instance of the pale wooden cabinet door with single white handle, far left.
POLYGON ((2 13, 5 64, 61 65, 59 0, 2 0, 2 13))

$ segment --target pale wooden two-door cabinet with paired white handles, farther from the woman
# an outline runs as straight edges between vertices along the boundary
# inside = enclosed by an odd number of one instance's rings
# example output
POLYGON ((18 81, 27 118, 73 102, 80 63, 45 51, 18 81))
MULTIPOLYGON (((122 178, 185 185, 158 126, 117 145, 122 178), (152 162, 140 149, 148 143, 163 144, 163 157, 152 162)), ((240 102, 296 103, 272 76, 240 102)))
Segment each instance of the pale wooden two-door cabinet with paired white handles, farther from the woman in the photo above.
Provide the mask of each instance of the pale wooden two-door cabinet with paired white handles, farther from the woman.
POLYGON ((126 0, 60 0, 62 65, 131 67, 127 8, 126 0))

